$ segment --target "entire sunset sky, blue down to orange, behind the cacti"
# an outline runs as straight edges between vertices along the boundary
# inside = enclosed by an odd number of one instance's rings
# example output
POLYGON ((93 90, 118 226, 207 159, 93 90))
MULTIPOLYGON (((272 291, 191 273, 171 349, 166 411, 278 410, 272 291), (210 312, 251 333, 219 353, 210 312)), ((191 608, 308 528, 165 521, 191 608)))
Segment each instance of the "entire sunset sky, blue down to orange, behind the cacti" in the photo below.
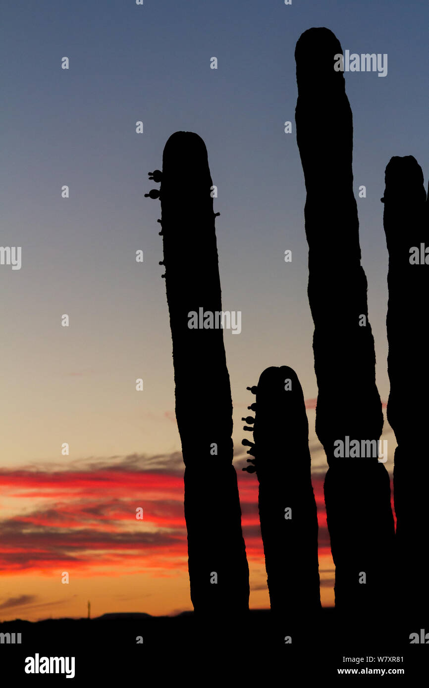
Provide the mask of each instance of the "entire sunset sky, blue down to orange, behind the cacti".
MULTIPOLYGON (((414 155, 428 182, 428 19, 426 0, 3 1, 0 244, 21 246, 22 264, 0 265, 0 620, 82 616, 88 599, 93 616, 191 609, 160 208, 144 197, 154 186, 147 172, 160 168, 178 130, 196 131, 207 145, 218 187, 222 305, 242 312, 240 335, 225 331, 224 343, 251 607, 269 599, 258 482, 240 470, 241 418, 253 400, 246 387, 269 365, 293 367, 307 400, 322 601, 333 604, 326 459, 314 431, 295 43, 304 30, 326 26, 343 50, 388 54, 384 78, 345 75, 355 195, 366 186, 366 198, 357 197, 362 264, 386 402, 380 198, 393 155, 414 155), (70 69, 61 69, 63 56, 70 69), (218 69, 210 68, 213 56, 218 69)), ((320 183, 335 193, 335 180, 320 183)), ((320 260, 328 265, 328 256, 320 260)), ((387 422, 382 439, 391 471, 387 422)))

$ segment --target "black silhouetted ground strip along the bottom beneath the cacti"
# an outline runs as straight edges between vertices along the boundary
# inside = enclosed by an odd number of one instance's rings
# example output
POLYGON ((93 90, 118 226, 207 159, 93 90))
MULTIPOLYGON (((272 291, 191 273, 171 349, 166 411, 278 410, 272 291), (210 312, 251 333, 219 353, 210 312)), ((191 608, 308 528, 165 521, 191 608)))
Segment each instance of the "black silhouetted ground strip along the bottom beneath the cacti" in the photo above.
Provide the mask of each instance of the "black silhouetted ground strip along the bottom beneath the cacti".
MULTIPOLYGON (((21 632, 21 645, 0 644, 2 685, 61 685, 65 675, 25 674, 25 658, 74 656, 74 685, 304 685, 311 679, 330 681, 337 669, 385 668, 385 676, 357 676, 363 680, 392 678, 388 669, 404 669, 393 676, 407 685, 427 682, 428 645, 410 645, 410 633, 424 627, 417 622, 394 619, 384 625, 377 619, 358 622, 340 619, 333 609, 324 609, 317 619, 295 624, 276 624, 271 612, 253 610, 240 625, 231 619, 198 621, 193 613, 180 616, 108 614, 98 619, 48 619, 8 621, 0 633, 21 632), (284 637, 292 636, 285 644, 284 637), (143 636, 143 644, 136 637, 143 636), (362 663, 344 663, 343 656, 363 657, 362 663), (366 662, 366 656, 375 661, 366 662), (380 663, 379 656, 403 661, 380 663), (6 678, 7 677, 7 678, 6 678), (5 680, 6 679, 6 680, 5 680), (239 684, 240 682, 240 684, 239 684)), ((429 632, 429 620, 426 623, 429 632)), ((70 679, 69 679, 70 680, 70 679)), ((72 684, 71 684, 72 685, 72 684)))

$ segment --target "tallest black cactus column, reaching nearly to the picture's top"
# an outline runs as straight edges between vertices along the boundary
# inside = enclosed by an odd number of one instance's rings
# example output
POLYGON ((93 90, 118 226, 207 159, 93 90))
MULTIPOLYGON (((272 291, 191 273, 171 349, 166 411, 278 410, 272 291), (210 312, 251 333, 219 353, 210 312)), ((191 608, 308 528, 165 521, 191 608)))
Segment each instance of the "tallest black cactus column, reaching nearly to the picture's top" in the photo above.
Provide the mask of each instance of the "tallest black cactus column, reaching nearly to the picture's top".
POLYGON ((383 413, 360 264, 352 113, 344 76, 334 69, 334 56, 340 53, 341 45, 328 29, 313 28, 300 36, 295 116, 307 193, 308 299, 319 388, 316 432, 329 465, 324 492, 335 604, 364 612, 389 603, 394 525, 389 476, 373 454, 383 413), (359 443, 360 457, 355 458, 354 443, 350 458, 342 458, 339 442, 346 452, 353 440, 359 443))

